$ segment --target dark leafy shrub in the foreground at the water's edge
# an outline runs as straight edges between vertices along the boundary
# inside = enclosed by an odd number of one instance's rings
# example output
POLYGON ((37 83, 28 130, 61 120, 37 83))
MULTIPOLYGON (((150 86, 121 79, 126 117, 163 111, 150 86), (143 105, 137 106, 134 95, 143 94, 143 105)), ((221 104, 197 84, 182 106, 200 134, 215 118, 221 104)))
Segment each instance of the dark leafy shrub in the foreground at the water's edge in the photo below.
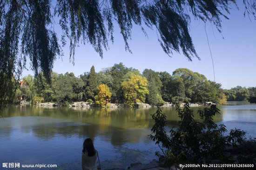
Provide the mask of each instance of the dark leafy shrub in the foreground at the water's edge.
POLYGON ((172 128, 170 133, 166 132, 166 115, 158 107, 152 115, 155 121, 151 129, 150 139, 159 145, 162 153, 156 152, 156 156, 165 160, 165 164, 170 167, 173 164, 207 164, 212 160, 222 162, 231 161, 225 157, 227 146, 236 148, 244 141, 245 131, 234 129, 230 130, 227 136, 226 126, 217 125, 213 122, 213 116, 220 114, 216 105, 199 110, 202 121, 195 121, 193 109, 186 103, 184 108, 176 108, 181 119, 179 127, 172 128))

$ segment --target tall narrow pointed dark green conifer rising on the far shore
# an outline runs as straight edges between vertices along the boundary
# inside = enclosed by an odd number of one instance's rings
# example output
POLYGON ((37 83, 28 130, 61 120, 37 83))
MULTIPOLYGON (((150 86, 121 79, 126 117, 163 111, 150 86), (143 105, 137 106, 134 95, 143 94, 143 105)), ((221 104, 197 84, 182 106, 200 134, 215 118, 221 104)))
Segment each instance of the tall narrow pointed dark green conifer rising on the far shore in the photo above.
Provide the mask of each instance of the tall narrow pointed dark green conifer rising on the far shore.
POLYGON ((87 87, 85 88, 87 99, 94 100, 94 96, 96 95, 96 90, 98 87, 97 80, 97 74, 95 73, 94 66, 92 66, 88 75, 87 87))

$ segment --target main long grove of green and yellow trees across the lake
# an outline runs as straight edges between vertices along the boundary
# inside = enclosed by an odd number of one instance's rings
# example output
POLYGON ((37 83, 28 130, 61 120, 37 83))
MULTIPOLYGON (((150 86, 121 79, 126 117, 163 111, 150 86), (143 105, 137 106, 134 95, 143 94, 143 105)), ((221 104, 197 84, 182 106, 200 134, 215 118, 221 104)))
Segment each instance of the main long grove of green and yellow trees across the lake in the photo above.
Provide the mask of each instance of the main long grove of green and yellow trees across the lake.
MULTIPOLYGON (((109 102, 129 106, 135 102, 155 106, 165 102, 178 104, 184 101, 223 104, 227 101, 226 95, 231 100, 231 95, 228 94, 230 90, 223 90, 220 83, 209 81, 204 75, 186 68, 176 69, 170 75, 168 72, 156 72, 152 69, 145 69, 141 74, 137 69, 127 68, 122 63, 96 73, 92 66, 90 72, 79 77, 68 72, 64 75, 53 72, 50 84, 42 75, 25 76, 16 96, 32 102, 88 101, 101 106, 106 106, 109 102)), ((248 100, 249 89, 244 90, 248 92, 248 96, 242 98, 248 100)), ((238 94, 240 93, 234 94, 234 99, 241 99, 238 94)))

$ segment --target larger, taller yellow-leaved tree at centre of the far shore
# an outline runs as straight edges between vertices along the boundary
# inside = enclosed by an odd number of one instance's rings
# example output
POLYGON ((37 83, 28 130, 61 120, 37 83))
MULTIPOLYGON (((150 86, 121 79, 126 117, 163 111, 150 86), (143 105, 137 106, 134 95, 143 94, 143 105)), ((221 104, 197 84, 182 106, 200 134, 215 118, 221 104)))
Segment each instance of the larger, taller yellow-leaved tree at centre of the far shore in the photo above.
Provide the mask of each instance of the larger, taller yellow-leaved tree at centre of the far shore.
POLYGON ((144 76, 131 74, 129 78, 122 82, 123 96, 125 103, 132 107, 135 102, 145 102, 148 94, 148 80, 144 76))

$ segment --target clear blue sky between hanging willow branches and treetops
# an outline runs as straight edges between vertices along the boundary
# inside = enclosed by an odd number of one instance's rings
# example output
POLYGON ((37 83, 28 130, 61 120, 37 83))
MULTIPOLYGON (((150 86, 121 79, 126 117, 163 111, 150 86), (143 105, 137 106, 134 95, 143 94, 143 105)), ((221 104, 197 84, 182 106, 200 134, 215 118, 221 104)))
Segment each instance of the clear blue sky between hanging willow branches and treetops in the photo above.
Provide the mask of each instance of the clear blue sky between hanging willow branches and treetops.
MULTIPOLYGON (((239 10, 232 9, 229 20, 222 20, 222 34, 214 25, 206 24, 209 44, 215 66, 216 82, 222 84, 222 88, 232 88, 237 85, 242 87, 256 86, 256 20, 253 16, 244 17, 242 0, 238 0, 239 10)), ((155 30, 146 29, 148 38, 145 37, 139 26, 134 26, 132 39, 129 41, 132 54, 125 51, 125 44, 120 34, 120 29, 115 25, 114 44, 109 44, 109 50, 104 51, 103 59, 90 46, 83 45, 75 50, 75 64, 69 63, 69 48, 63 48, 64 57, 54 63, 54 71, 57 73, 73 72, 79 76, 90 71, 92 65, 98 72, 102 68, 113 66, 115 63, 123 63, 126 67, 155 71, 167 71, 170 74, 178 68, 188 68, 194 72, 205 75, 214 81, 213 66, 204 23, 200 20, 192 20, 190 32, 195 49, 201 60, 193 58, 189 62, 183 54, 173 53, 168 57, 157 41, 155 30)), ((29 66, 28 66, 29 67, 29 66)), ((24 71, 23 75, 33 74, 24 71)))

